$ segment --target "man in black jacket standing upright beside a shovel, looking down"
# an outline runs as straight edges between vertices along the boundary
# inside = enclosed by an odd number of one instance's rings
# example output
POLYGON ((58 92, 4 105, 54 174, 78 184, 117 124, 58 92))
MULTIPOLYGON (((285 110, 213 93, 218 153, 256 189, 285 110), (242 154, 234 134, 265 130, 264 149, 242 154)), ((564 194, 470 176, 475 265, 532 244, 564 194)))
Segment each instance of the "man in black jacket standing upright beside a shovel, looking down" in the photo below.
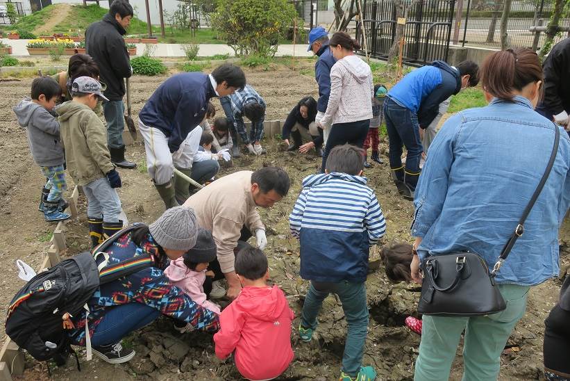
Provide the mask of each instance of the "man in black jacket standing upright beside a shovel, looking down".
POLYGON ((85 51, 99 66, 99 78, 107 85, 107 90, 103 93, 109 102, 103 103, 103 112, 107 121, 107 145, 111 161, 121 168, 137 166, 125 159, 123 143, 124 79, 133 74, 123 35, 126 33, 125 28, 131 24, 132 17, 131 4, 124 0, 115 0, 111 3, 109 13, 101 21, 88 26, 85 31, 85 51))

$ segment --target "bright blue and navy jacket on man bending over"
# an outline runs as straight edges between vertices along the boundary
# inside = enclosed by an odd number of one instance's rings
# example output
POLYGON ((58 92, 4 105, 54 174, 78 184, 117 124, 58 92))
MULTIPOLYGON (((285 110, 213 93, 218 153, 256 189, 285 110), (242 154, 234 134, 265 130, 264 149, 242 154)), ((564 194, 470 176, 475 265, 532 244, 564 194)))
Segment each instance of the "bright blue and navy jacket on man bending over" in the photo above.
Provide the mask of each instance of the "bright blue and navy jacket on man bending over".
POLYGON ((419 127, 425 129, 439 113, 439 104, 460 90, 459 70, 436 60, 404 76, 387 97, 417 114, 419 127))

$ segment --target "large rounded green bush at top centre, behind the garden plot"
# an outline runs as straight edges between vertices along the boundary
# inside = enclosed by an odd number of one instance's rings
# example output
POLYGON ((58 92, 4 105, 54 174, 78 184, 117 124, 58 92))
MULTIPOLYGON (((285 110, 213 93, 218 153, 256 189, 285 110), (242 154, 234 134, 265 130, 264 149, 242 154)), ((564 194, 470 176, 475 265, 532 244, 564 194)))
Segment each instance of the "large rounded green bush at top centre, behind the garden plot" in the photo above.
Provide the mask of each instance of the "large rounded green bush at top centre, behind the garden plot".
POLYGON ((274 56, 295 17, 287 0, 218 0, 211 20, 236 55, 274 56))

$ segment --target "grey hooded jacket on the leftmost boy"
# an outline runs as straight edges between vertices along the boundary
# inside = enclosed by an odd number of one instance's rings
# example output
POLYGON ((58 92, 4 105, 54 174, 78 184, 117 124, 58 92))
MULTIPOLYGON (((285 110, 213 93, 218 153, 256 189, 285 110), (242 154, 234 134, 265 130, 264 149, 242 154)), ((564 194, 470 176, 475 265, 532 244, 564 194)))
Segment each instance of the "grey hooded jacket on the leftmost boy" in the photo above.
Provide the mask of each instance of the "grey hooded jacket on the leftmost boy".
POLYGON ((44 107, 22 99, 12 108, 19 125, 26 129, 33 160, 40 167, 63 165, 65 154, 60 141, 60 124, 44 107))

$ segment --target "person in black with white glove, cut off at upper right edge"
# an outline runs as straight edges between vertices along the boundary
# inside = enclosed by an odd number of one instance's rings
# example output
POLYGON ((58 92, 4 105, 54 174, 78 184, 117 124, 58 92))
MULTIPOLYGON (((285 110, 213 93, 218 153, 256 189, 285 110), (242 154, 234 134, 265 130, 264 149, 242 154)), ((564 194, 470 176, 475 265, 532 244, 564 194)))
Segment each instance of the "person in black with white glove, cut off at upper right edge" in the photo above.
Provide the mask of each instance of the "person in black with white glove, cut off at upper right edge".
POLYGON ((555 44, 542 65, 544 99, 538 113, 566 127, 570 133, 570 38, 555 44))

